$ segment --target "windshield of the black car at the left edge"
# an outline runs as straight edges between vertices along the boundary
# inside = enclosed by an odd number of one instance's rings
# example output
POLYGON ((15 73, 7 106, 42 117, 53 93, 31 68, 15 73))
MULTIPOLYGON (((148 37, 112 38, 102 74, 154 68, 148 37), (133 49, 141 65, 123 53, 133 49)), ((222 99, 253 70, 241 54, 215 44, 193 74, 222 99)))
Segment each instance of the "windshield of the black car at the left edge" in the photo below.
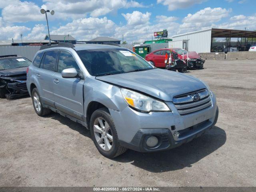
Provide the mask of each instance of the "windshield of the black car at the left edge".
POLYGON ((0 70, 28 67, 30 64, 31 61, 24 57, 0 59, 0 70))

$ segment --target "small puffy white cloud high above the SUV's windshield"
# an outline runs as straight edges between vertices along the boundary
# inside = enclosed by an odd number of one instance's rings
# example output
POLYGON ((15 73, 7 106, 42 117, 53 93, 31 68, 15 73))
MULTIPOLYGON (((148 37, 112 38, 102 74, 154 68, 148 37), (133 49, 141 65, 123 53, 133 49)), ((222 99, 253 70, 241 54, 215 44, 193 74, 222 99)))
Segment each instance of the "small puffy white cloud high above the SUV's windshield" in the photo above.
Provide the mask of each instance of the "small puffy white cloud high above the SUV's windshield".
POLYGON ((150 20, 151 13, 146 12, 145 14, 139 11, 134 11, 132 13, 123 14, 124 18, 127 21, 127 25, 141 25, 146 24, 150 20))

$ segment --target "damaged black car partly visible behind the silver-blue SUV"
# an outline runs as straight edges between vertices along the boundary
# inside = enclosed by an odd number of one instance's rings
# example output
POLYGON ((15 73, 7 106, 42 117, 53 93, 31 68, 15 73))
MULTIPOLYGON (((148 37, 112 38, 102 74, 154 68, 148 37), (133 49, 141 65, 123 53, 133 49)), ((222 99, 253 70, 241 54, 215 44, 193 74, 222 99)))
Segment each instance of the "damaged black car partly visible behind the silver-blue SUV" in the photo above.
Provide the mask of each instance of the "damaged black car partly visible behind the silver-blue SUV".
POLYGON ((26 70, 31 61, 17 55, 0 56, 0 98, 16 98, 28 94, 26 70))

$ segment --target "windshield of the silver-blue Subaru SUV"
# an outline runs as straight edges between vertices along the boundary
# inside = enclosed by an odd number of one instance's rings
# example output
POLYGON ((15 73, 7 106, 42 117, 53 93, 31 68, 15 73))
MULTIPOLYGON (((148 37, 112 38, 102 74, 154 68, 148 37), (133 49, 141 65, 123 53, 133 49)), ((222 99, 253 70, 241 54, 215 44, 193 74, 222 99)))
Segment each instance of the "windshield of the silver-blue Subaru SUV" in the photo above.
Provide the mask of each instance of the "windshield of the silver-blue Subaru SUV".
POLYGON ((91 49, 77 51, 92 76, 103 76, 153 69, 147 61, 128 50, 91 49))

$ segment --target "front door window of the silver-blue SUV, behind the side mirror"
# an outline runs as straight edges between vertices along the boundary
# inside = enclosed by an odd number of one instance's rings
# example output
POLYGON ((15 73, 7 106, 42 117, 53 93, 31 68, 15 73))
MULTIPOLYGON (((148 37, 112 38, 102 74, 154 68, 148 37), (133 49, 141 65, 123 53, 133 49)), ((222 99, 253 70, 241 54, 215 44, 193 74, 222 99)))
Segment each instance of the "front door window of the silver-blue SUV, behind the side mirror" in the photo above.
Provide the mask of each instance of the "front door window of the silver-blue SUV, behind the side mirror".
POLYGON ((78 67, 78 64, 76 63, 76 60, 72 56, 72 54, 68 51, 61 50, 58 60, 58 73, 61 73, 62 70, 68 69, 68 68, 75 68, 78 73, 80 73, 80 68, 78 67))

